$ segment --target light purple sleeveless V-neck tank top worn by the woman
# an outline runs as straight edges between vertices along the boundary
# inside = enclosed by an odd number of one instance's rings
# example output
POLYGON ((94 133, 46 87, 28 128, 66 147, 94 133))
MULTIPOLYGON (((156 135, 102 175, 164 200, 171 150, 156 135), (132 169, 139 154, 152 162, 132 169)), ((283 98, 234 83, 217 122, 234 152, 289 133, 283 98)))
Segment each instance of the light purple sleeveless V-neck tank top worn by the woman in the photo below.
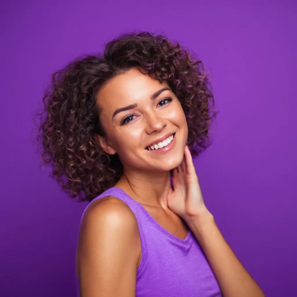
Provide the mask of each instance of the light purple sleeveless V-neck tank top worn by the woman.
MULTIPOLYGON (((136 274, 136 297, 222 296, 203 250, 189 228, 184 240, 174 236, 120 188, 106 190, 91 203, 106 196, 124 201, 138 222, 142 257, 136 274)), ((76 282, 79 297, 77 274, 76 282)))

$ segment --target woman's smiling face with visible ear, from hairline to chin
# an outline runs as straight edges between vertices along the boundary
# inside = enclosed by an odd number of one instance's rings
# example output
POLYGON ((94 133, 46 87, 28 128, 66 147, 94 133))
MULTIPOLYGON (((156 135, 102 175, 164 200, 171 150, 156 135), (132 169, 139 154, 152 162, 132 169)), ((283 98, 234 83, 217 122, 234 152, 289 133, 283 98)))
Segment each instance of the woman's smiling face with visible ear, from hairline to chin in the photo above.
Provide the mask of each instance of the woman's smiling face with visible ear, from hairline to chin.
POLYGON ((118 153, 124 167, 168 171, 182 162, 188 138, 187 121, 166 82, 132 68, 106 83, 97 102, 108 154, 118 153))

